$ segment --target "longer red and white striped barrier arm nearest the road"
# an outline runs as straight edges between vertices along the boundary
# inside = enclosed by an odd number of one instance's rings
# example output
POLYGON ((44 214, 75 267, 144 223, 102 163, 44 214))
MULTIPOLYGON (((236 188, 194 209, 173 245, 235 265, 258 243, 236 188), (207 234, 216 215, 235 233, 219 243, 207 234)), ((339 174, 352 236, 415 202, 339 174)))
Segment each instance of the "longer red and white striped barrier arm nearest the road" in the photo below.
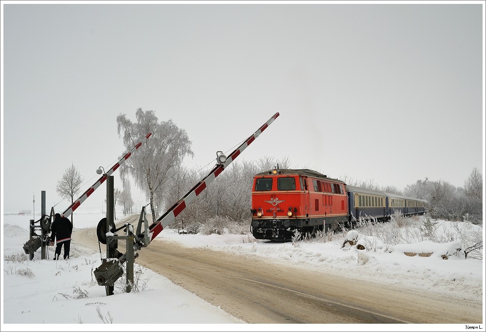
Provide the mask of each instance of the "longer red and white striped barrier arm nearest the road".
MULTIPOLYGON (((182 212, 192 202, 194 198, 197 197, 203 190, 205 190, 208 185, 220 175, 221 172, 238 157, 248 145, 251 144, 262 132, 265 130, 270 123, 272 123, 280 114, 277 112, 273 117, 265 122, 253 135, 246 139, 242 145, 240 145, 236 150, 234 150, 227 158, 224 164, 218 164, 209 172, 209 174, 199 181, 192 189, 187 192, 177 203, 175 203, 172 208, 167 210, 160 218, 156 220, 152 225, 149 226, 150 232, 152 233, 151 241, 165 228, 169 225, 179 213, 182 212)), ((141 235, 143 238, 143 235, 141 235)))

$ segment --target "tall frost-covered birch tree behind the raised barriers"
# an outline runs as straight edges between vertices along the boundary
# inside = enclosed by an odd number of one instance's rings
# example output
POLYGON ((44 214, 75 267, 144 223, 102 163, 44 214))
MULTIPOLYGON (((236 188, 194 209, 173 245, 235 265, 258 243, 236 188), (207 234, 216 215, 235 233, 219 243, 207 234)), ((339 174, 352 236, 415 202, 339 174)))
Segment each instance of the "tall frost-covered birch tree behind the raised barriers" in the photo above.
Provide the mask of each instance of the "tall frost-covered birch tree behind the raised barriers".
POLYGON ((135 115, 137 122, 132 122, 125 114, 117 117, 118 135, 123 137, 125 147, 131 149, 148 133, 152 136, 140 151, 121 165, 120 176, 123 179, 131 175, 137 187, 145 192, 155 221, 167 201, 177 167, 185 157, 194 156, 192 142, 186 131, 172 120, 159 122, 154 111, 139 108, 135 115))

